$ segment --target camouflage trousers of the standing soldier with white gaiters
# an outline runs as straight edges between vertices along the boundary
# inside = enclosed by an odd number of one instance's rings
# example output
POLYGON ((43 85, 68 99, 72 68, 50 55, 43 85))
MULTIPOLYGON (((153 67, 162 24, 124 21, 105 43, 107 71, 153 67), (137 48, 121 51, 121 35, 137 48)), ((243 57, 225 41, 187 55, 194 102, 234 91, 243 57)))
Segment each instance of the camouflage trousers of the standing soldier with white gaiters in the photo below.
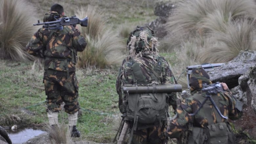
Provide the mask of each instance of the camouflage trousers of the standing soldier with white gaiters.
POLYGON ((44 86, 47 95, 47 112, 59 112, 60 105, 65 103, 64 109, 66 113, 73 114, 80 107, 78 103, 78 81, 75 72, 67 72, 46 70, 44 72, 44 86))

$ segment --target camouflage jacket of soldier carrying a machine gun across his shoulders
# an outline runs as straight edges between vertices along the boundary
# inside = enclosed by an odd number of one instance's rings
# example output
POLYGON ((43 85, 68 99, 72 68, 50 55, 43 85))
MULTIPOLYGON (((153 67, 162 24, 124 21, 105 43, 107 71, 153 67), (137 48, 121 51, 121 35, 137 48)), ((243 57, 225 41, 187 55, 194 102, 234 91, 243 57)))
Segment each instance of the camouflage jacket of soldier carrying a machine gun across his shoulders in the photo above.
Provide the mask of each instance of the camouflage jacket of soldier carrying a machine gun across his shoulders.
POLYGON ((26 49, 29 54, 44 58, 44 70, 75 72, 77 51, 85 47, 86 41, 80 31, 73 26, 63 26, 63 30, 40 28, 26 49), (84 43, 79 44, 78 40, 84 43))

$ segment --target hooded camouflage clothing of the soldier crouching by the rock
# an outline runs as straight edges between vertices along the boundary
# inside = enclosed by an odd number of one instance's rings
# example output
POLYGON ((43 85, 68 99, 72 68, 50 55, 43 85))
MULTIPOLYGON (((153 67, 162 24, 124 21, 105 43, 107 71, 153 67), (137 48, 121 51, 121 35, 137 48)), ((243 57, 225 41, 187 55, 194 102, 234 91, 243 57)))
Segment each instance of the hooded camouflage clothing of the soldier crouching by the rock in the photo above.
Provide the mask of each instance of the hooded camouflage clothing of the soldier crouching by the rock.
MULTIPOLYGON (((230 129, 227 120, 225 118, 220 117, 220 114, 217 113, 216 109, 213 107, 212 103, 209 102, 203 105, 208 106, 209 109, 204 109, 202 107, 199 112, 195 116, 191 116, 189 114, 195 113, 201 102, 198 98, 205 99, 206 92, 200 91, 204 84, 212 84, 209 80, 209 75, 202 68, 194 68, 190 75, 189 85, 191 90, 191 97, 188 97, 182 100, 181 104, 177 108, 177 116, 168 122, 167 127, 167 136, 170 138, 177 138, 179 143, 213 143, 212 139, 219 139, 218 143, 221 143, 220 137, 211 137, 209 134, 209 125, 217 124, 217 123, 226 123, 228 130, 225 131, 228 134, 228 142, 224 143, 232 143, 233 133, 230 129), (193 129, 202 130, 202 137, 196 137, 195 134, 192 133, 193 129), (189 139, 193 135, 192 139, 189 139), (193 142, 195 140, 195 142, 193 142)), ((242 112, 236 109, 236 99, 233 97, 232 93, 227 89, 223 92, 219 92, 217 94, 211 95, 213 99, 215 99, 215 103, 219 108, 220 112, 227 116, 231 120, 236 120, 242 116, 242 112)), ((218 133, 216 129, 216 133, 218 133)), ((198 134, 200 135, 200 134, 198 134)))

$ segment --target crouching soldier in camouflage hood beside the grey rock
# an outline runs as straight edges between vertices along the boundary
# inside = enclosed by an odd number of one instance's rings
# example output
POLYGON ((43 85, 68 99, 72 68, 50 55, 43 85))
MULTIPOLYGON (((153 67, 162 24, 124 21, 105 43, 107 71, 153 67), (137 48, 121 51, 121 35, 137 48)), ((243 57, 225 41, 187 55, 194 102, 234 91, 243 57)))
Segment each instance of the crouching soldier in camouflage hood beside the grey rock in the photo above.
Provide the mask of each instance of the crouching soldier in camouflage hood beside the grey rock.
POLYGON ((234 143, 228 118, 242 116, 242 103, 225 83, 212 84, 203 68, 193 68, 189 86, 192 96, 181 102, 177 117, 168 122, 167 135, 182 144, 234 143))

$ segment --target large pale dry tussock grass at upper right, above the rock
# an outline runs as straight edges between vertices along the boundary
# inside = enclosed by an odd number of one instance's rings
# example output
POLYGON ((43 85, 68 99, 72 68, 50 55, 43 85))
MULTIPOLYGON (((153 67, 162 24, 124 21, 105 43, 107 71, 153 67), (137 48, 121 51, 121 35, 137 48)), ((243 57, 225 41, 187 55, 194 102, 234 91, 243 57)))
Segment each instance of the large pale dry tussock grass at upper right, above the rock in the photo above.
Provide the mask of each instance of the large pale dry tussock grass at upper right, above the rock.
MULTIPOLYGON (((256 50, 255 10, 254 0, 181 1, 168 19, 169 34, 162 45, 180 61, 174 73, 189 65, 228 62, 241 50, 256 50)), ((182 79, 180 83, 186 83, 182 79)))

